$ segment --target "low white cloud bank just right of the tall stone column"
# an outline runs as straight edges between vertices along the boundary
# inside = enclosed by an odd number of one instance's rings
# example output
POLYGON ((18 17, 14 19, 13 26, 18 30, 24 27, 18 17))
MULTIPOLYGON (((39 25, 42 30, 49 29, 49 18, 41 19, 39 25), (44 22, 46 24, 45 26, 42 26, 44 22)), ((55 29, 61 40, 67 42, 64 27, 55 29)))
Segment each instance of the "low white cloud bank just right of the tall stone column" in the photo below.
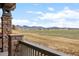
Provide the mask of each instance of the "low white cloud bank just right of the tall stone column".
POLYGON ((29 19, 12 19, 12 24, 14 25, 28 25, 28 26, 39 26, 40 24, 38 24, 37 21, 32 22, 29 21, 29 19))

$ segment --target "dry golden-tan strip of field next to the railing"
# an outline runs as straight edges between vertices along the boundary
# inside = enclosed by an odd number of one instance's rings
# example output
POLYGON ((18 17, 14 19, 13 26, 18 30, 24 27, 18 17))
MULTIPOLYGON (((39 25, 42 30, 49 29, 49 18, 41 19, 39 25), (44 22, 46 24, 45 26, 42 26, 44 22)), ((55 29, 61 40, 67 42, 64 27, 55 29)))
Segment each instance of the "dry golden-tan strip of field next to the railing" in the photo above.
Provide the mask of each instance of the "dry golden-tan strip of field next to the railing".
POLYGON ((79 55, 79 40, 55 36, 42 36, 35 33, 23 34, 26 40, 37 42, 38 44, 43 44, 68 54, 79 55))

